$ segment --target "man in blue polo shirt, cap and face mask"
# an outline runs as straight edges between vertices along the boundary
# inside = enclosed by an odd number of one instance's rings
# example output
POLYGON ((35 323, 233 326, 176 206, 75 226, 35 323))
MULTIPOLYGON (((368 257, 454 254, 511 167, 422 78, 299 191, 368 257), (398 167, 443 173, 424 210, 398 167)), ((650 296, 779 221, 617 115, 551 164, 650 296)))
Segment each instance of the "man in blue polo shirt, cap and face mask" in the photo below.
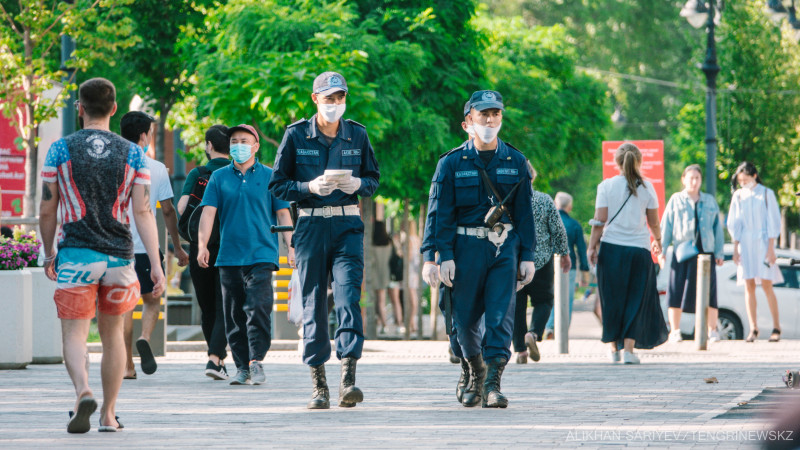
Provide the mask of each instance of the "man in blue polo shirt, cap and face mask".
MULTIPOLYGON (((267 189, 272 169, 257 162, 259 138, 250 125, 228 130, 233 163, 211 175, 201 205, 197 263, 208 267, 208 239, 219 213, 219 268, 225 332, 237 373, 231 384, 266 381, 261 361, 271 342, 272 272, 278 269, 278 238, 269 232, 277 221, 291 225, 289 204, 267 189)), ((294 261, 291 232, 283 233, 294 261)))

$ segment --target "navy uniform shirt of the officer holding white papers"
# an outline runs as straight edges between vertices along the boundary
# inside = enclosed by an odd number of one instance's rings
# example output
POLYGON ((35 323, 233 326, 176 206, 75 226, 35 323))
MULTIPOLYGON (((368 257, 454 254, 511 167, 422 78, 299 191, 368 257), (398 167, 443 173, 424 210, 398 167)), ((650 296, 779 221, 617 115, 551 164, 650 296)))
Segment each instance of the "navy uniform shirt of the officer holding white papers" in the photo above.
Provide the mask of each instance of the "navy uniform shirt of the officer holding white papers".
POLYGON ((369 197, 378 188, 378 161, 369 142, 367 130, 352 120, 340 120, 336 138, 328 147, 317 129, 317 115, 286 128, 278 147, 269 189, 282 200, 297 202, 300 208, 358 204, 358 196, 369 197), (308 189, 308 182, 323 175, 325 169, 349 169, 361 178, 361 187, 353 194, 334 190, 320 197, 308 189))

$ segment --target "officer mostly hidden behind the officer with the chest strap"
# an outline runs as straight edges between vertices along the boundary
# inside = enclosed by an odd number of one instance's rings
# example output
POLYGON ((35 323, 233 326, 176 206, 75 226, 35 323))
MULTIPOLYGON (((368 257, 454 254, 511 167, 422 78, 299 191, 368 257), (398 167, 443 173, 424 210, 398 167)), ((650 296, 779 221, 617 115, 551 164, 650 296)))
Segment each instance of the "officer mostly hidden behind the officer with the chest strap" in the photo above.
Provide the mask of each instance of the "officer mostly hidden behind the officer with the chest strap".
MULTIPOLYGON (((472 125, 470 124, 471 119, 469 118, 469 110, 470 104, 469 100, 464 104, 464 121, 461 122, 461 127, 464 131, 469 135, 469 139, 472 138, 472 125)), ((433 180, 436 180, 438 177, 439 171, 442 167, 442 161, 444 157, 453 153, 455 151, 461 150, 464 145, 466 145, 467 141, 464 141, 463 144, 460 146, 450 150, 447 153, 443 153, 439 156, 439 161, 436 164, 436 171, 433 174, 433 180)), ((444 286, 439 284, 439 263, 436 260, 436 240, 434 234, 434 228, 436 225, 436 190, 437 185, 436 182, 431 182, 431 189, 428 196, 428 214, 425 218, 425 231, 423 233, 422 245, 420 246, 420 253, 422 254, 422 259, 424 261, 424 265, 422 267, 422 279, 428 283, 429 286, 433 289, 439 288, 439 310, 442 311, 442 314, 445 313, 445 305, 444 305, 444 286)), ((458 379, 458 383, 456 384, 456 399, 458 402, 461 403, 462 396, 464 395, 464 391, 467 389, 467 384, 469 383, 469 364, 467 360, 464 358, 464 355, 461 353, 461 346, 458 344, 458 334, 447 330, 450 338, 450 352, 451 352, 451 362, 461 364, 461 376, 458 379), (455 358, 455 360, 453 360, 455 358)))

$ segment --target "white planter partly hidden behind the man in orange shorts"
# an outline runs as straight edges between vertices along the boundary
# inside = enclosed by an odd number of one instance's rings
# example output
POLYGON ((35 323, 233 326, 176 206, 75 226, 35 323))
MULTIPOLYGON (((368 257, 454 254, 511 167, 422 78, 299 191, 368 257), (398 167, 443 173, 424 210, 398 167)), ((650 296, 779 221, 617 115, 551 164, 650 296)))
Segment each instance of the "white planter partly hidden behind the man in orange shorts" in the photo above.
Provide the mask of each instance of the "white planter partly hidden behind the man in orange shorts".
POLYGON ((42 267, 26 269, 33 275, 33 363, 60 364, 61 320, 53 295, 56 282, 47 278, 42 267))

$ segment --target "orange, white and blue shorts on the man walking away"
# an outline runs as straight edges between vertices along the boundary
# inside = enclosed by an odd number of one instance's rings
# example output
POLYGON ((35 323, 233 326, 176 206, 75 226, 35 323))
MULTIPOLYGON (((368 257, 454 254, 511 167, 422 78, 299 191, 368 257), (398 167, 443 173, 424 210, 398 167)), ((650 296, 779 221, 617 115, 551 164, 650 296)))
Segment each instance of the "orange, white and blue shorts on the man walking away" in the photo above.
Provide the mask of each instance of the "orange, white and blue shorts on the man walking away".
POLYGON ((116 258, 86 248, 58 253, 55 293, 59 319, 91 319, 95 309, 120 316, 139 300, 139 280, 132 259, 116 258))

